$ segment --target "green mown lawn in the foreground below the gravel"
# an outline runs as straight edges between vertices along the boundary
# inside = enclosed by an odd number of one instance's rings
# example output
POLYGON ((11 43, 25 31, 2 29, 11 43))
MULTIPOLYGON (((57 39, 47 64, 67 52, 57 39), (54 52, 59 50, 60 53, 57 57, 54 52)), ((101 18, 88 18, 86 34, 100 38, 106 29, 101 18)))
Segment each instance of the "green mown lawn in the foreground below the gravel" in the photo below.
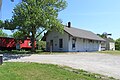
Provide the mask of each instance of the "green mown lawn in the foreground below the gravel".
POLYGON ((9 63, 0 65, 0 80, 114 80, 83 70, 38 63, 9 63))

